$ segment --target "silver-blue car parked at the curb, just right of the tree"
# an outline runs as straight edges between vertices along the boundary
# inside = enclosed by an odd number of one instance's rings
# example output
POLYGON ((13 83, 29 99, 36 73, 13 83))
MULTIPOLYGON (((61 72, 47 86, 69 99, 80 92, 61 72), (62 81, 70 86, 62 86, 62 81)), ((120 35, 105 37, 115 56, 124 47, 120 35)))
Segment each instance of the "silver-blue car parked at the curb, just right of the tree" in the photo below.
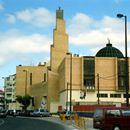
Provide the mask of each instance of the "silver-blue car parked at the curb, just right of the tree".
POLYGON ((48 112, 48 110, 45 109, 36 109, 34 110, 32 113, 30 113, 31 116, 35 116, 35 117, 49 117, 51 116, 50 112, 48 112))

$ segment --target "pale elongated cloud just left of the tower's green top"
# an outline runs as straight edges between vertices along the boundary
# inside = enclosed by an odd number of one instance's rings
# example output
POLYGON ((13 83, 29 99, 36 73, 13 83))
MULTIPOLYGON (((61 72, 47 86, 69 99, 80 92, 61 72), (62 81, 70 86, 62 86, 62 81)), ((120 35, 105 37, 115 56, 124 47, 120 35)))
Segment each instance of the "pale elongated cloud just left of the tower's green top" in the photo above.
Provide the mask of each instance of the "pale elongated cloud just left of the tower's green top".
POLYGON ((16 18, 34 26, 45 27, 54 23, 55 15, 45 8, 38 8, 19 11, 16 18))

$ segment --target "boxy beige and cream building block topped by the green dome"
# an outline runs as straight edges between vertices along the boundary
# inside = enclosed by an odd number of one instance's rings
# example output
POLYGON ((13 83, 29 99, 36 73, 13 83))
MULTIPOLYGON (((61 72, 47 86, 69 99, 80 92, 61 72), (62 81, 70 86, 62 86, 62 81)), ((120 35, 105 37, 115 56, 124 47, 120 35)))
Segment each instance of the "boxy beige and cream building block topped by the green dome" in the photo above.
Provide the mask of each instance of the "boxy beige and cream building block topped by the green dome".
POLYGON ((73 105, 126 103, 125 59, 110 43, 99 50, 96 56, 66 57, 59 67, 59 74, 60 104, 64 108, 70 103, 70 78, 73 105), (72 77, 69 77, 70 73, 72 77))

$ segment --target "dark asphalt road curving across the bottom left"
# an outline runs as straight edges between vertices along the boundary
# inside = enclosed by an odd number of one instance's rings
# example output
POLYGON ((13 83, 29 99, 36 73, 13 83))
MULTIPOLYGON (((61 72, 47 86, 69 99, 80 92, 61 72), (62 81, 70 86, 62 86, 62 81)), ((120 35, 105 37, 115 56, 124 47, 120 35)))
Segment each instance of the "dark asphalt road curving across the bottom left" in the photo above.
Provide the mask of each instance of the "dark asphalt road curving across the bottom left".
POLYGON ((0 118, 0 130, 73 130, 61 122, 24 117, 0 118))

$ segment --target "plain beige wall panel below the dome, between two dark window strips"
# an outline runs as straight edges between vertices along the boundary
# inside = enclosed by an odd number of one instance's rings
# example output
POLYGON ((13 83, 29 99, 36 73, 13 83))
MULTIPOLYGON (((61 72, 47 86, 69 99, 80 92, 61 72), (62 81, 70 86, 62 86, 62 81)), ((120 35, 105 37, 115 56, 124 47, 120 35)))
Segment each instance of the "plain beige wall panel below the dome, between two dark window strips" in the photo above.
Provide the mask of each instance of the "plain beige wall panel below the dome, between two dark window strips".
MULTIPOLYGON (((95 75, 99 74, 100 90, 115 90, 117 87, 117 58, 95 57, 95 75)), ((97 77, 95 77, 97 86, 97 77)))

